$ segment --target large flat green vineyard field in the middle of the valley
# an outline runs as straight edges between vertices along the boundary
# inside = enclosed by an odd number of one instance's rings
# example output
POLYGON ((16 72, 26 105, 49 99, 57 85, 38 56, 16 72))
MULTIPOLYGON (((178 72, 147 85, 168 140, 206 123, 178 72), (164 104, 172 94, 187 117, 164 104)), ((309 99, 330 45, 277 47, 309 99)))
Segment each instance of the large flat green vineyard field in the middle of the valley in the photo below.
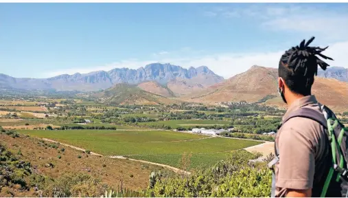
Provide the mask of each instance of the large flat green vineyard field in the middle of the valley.
POLYGON ((124 155, 178 166, 183 153, 193 153, 191 167, 225 159, 229 151, 260 144, 173 131, 21 130, 19 133, 72 144, 103 155, 124 155))

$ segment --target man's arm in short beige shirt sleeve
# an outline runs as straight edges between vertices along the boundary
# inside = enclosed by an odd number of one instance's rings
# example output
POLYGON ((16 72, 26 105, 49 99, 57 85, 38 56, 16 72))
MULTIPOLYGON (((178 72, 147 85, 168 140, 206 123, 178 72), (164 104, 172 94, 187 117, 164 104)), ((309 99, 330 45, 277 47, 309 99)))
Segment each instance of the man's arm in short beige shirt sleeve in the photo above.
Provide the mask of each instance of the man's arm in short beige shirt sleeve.
POLYGON ((297 121, 300 120, 289 120, 279 134, 279 173, 276 186, 286 188, 287 197, 310 197, 315 168, 313 134, 307 127, 299 129, 302 123, 297 121))

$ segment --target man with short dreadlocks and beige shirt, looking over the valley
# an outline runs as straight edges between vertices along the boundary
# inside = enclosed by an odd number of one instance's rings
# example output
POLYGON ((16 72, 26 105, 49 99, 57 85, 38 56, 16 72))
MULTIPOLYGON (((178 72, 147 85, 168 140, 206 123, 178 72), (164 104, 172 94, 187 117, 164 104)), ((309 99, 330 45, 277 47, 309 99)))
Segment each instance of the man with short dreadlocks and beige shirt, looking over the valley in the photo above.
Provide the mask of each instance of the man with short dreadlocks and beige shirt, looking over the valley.
MULTIPOLYGON (((304 115, 292 115, 303 108, 323 115, 321 104, 312 95, 311 88, 318 65, 324 70, 329 66, 318 56, 333 59, 321 54, 327 47, 310 47, 313 40, 314 37, 307 43, 303 40, 300 45, 290 48, 279 61, 278 91, 283 102, 288 104, 288 110, 275 140, 277 160, 270 163, 275 176, 272 197, 320 197, 332 165, 329 139, 323 124, 304 115)), ((330 185, 326 196, 341 196, 334 186, 330 185)))

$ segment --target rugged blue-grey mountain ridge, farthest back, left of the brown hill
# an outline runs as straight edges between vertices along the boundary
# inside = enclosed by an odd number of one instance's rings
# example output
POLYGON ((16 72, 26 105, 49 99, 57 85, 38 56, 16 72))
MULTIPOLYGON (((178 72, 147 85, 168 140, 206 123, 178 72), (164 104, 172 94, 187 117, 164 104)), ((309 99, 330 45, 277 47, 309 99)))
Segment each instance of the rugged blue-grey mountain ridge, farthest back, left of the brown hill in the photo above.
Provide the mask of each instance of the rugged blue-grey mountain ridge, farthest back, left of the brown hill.
POLYGON ((152 63, 139 69, 116 68, 108 72, 98 71, 89 74, 63 74, 52 78, 13 78, 0 74, 0 88, 56 91, 98 91, 108 89, 119 83, 137 85, 147 81, 156 81, 167 85, 176 78, 195 80, 205 86, 219 83, 224 78, 214 74, 208 67, 183 67, 170 64, 152 63))

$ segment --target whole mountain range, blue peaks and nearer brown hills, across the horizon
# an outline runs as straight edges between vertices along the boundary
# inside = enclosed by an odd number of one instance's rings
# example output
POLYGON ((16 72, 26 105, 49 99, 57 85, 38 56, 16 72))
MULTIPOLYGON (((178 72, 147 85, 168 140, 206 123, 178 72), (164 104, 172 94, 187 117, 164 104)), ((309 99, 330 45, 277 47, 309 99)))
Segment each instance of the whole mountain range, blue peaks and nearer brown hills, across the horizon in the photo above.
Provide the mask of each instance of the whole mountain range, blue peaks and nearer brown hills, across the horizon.
MULTIPOLYGON (((312 88, 319 102, 348 109, 348 69, 318 69, 312 88)), ((13 78, 0 74, 0 89, 93 91, 92 97, 108 104, 169 104, 175 102, 259 102, 284 105, 277 94, 275 68, 254 65, 227 80, 208 67, 183 67, 153 63, 139 69, 112 69, 53 78, 13 78), (103 89, 100 91, 100 89, 103 89)))

